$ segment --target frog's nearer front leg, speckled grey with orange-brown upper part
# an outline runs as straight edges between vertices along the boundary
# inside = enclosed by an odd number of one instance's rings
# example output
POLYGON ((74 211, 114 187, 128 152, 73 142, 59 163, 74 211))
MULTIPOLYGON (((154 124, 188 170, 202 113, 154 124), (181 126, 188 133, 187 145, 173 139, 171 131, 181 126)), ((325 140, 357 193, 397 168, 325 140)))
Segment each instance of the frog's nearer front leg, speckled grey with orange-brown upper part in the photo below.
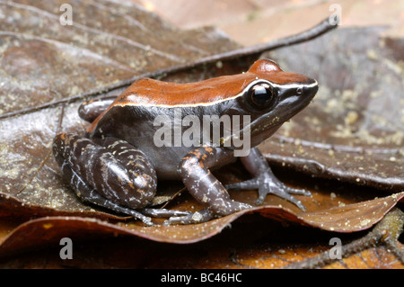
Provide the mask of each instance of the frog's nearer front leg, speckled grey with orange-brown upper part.
POLYGON ((179 174, 189 193, 206 209, 189 214, 188 216, 172 217, 166 224, 200 223, 242 211, 251 206, 242 202, 235 202, 230 198, 224 185, 209 170, 221 161, 221 149, 201 147, 192 149, 184 157, 179 166, 179 174))

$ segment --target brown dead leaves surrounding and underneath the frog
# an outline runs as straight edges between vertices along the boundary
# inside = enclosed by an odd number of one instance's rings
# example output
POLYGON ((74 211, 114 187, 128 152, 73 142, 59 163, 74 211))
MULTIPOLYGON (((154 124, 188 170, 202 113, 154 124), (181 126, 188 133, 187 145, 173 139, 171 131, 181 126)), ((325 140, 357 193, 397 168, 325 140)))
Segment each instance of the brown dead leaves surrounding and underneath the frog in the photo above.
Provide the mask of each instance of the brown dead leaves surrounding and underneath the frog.
MULTIPOLYGON (((369 229, 393 206, 402 202, 403 193, 385 195, 386 191, 400 191, 404 186, 403 138, 400 136, 403 131, 400 121, 403 121, 404 77, 402 68, 394 64, 394 60, 402 60, 402 54, 391 56, 389 49, 394 46, 397 50, 402 46, 400 40, 391 39, 380 45, 383 40, 379 36, 381 29, 374 28, 340 29, 269 54, 285 70, 318 78, 321 91, 307 111, 286 123, 273 138, 260 146, 261 150, 272 164, 286 167, 284 172, 278 173, 290 185, 296 185, 288 176, 288 171, 294 169, 315 177, 349 182, 352 185, 347 188, 350 189, 348 193, 341 190, 347 185, 342 184, 338 189, 326 184, 324 190, 319 190, 317 184, 313 184, 317 180, 306 178, 297 183, 313 193, 312 197, 299 198, 308 208, 306 213, 298 211, 289 202, 268 196, 262 206, 203 224, 156 225, 151 228, 83 204, 61 181, 50 154, 58 129, 81 133, 87 125, 77 116, 81 103, 77 100, 101 94, 103 90, 119 94, 119 89, 114 91, 114 87, 120 87, 128 78, 153 74, 156 70, 169 69, 179 63, 231 51, 239 46, 215 30, 176 31, 136 5, 121 6, 108 1, 90 2, 89 6, 77 3, 76 7, 83 9, 80 10, 83 17, 67 31, 55 24, 58 4, 57 1, 37 6, 24 1, 0 2, 2 11, 12 15, 2 19, 0 24, 0 50, 4 55, 0 65, 0 85, 6 87, 0 91, 0 134, 4 135, 0 141, 0 214, 37 218, 25 221, 4 236, 0 253, 22 247, 19 237, 23 233, 30 231, 32 238, 37 238, 37 244, 40 244, 45 238, 57 237, 60 229, 192 243, 214 236, 233 220, 250 212, 318 229, 353 232, 369 229), (47 10, 49 7, 53 10, 47 10), (95 13, 99 14, 95 19, 100 19, 102 25, 103 19, 109 18, 103 16, 107 12, 126 21, 106 25, 108 31, 97 28, 97 21, 86 22, 89 18, 85 14, 95 13), (18 24, 12 25, 12 22, 18 24), (129 27, 125 28, 126 25, 129 27), (136 32, 133 32, 133 26, 136 26, 136 32), (151 35, 151 38, 145 35, 151 35), (364 46, 356 48, 352 44, 356 41, 352 39, 361 35, 364 46), (340 52, 343 49, 339 46, 346 47, 347 43, 351 43, 352 48, 340 52), (139 50, 135 52, 134 47, 139 50), (368 47, 374 48, 364 53, 368 47), (129 55, 128 50, 132 51, 129 55), (347 52, 350 60, 341 60, 347 57, 347 52), (294 58, 294 55, 298 57, 303 53, 307 57, 294 58), (357 67, 363 63, 368 67, 368 74, 357 67), (330 71, 330 75, 322 71, 330 71), (378 73, 383 76, 378 76, 378 73), (375 76, 371 77, 372 74, 375 76), (369 90, 366 83, 371 78, 375 84, 369 90), (389 96, 389 106, 382 104, 384 94, 389 96), (360 196, 356 196, 356 186, 362 191, 360 196), (364 191, 366 187, 371 190, 369 194, 364 191), (52 235, 50 230, 55 233, 52 235)), ((239 61, 242 62, 242 58, 239 61)), ((224 62, 222 70, 218 69, 220 65, 214 65, 204 67, 202 71, 198 68, 185 71, 191 75, 194 72, 200 78, 240 72, 250 63, 237 66, 234 62, 224 62)), ((175 74, 166 78, 176 80, 175 74)), ((183 80, 180 74, 179 78, 183 80)), ((220 176, 224 182, 234 182, 246 179, 248 175, 235 165, 220 176)), ((162 202, 173 209, 194 211, 200 208, 186 194, 180 193, 171 199, 172 194, 180 189, 180 185, 160 184, 159 193, 169 191, 162 202)), ((254 191, 231 195, 242 202, 254 202, 257 197, 254 191)))

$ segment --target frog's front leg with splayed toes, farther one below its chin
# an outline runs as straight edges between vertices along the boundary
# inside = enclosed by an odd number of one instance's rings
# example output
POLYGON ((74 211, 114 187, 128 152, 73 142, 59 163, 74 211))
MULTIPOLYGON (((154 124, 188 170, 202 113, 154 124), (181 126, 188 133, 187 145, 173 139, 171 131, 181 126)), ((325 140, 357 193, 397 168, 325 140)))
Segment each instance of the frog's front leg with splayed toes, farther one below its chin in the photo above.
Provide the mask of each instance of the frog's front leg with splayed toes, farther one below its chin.
POLYGON ((253 175, 253 178, 241 183, 227 184, 227 189, 258 189, 259 198, 256 202, 257 204, 264 202, 267 194, 271 193, 289 202, 293 202, 302 211, 305 211, 303 203, 291 194, 312 195, 312 193, 302 189, 291 188, 280 182, 272 173, 267 160, 262 156, 258 148, 251 148, 249 156, 241 157, 241 160, 242 164, 247 168, 250 174, 253 175))

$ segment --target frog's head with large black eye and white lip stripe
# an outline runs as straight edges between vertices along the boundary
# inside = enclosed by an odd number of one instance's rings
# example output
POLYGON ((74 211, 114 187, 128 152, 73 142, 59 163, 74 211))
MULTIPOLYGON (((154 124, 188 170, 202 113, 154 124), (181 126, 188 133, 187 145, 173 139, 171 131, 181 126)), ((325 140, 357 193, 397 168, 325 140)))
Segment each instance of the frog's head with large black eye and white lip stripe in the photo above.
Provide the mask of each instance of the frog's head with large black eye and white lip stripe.
POLYGON ((244 114, 250 114, 251 147, 268 139, 285 121, 302 111, 319 89, 316 80, 286 73, 268 59, 256 61, 245 74, 250 74, 250 81, 238 100, 244 114))

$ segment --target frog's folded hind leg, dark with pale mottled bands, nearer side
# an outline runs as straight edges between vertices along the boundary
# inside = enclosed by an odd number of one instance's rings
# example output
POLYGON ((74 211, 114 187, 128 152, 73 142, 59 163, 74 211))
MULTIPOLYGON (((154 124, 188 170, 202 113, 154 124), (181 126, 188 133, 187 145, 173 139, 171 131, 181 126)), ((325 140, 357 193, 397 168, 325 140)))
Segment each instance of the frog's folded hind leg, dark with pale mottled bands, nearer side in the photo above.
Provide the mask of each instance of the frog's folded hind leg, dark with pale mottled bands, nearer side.
POLYGON ((157 177, 141 151, 120 139, 106 138, 100 145, 61 133, 54 140, 53 153, 64 177, 83 202, 150 224, 150 219, 136 210, 153 199, 157 177))

